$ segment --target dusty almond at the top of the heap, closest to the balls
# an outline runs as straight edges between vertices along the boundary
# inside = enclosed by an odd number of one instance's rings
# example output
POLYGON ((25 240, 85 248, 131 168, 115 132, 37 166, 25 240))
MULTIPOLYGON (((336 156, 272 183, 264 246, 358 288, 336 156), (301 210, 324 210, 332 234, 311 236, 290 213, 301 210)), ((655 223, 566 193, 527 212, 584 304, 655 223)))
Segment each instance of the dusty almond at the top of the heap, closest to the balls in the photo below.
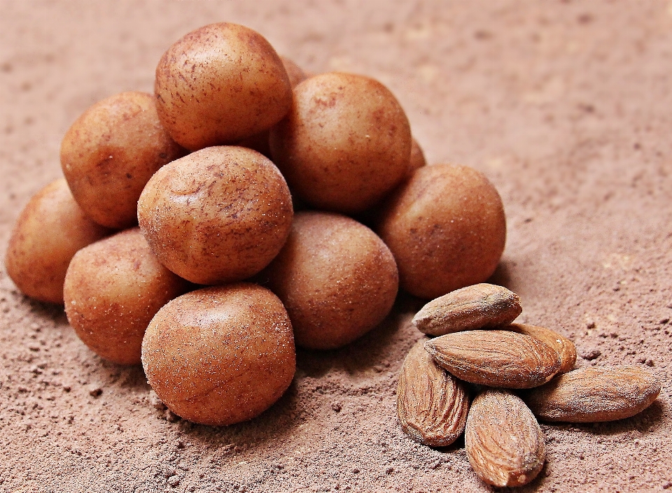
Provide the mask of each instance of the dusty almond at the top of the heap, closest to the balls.
POLYGON ((505 287, 482 283, 430 301, 413 317, 412 323, 424 334, 442 336, 508 324, 521 311, 517 294, 505 287))

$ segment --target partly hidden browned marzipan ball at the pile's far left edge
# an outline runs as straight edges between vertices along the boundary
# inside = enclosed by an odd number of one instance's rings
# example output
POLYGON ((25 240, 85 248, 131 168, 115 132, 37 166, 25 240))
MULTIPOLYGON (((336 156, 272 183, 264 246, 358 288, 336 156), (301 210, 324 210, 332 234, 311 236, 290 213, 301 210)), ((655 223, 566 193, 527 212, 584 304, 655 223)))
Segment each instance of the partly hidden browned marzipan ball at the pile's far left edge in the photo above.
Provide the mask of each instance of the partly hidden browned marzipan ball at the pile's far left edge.
POLYGON ((61 178, 37 192, 16 221, 5 257, 7 273, 26 296, 63 303, 73 255, 110 233, 86 217, 61 178))

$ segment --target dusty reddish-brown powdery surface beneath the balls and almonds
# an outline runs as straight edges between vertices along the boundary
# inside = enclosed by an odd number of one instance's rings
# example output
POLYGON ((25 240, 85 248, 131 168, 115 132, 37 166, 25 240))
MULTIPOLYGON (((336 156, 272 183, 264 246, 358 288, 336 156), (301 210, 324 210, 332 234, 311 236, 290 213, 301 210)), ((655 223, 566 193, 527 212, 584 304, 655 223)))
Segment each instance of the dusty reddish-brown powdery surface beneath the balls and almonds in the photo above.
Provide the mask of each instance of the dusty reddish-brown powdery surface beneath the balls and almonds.
MULTIPOLYGON (((152 90, 170 43, 218 20, 258 29, 310 71, 388 85, 428 162, 474 166, 498 187, 509 236, 496 280, 520 294, 519 320, 599 352, 580 366, 661 378, 636 417, 544 425, 547 465, 521 491, 672 487, 672 4, 1 0, 2 251, 31 194, 60 176, 71 122, 103 97, 152 90)), ((2 269, 2 492, 489 490, 463 445, 432 450, 400 431, 396 373, 421 336, 412 300, 348 348, 300 351, 267 413, 210 428, 166 420, 141 369, 99 359, 61 308, 29 301, 2 269)))

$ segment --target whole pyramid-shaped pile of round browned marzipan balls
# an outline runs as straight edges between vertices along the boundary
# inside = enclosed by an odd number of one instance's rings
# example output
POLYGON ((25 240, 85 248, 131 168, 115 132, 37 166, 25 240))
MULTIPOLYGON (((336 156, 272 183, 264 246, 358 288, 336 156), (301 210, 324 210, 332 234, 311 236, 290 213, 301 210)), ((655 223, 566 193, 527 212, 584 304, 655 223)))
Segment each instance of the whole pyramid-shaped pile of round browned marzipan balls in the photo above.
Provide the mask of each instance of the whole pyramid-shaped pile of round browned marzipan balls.
POLYGON ((384 85, 308 77, 237 24, 172 45, 155 94, 86 110, 60 159, 65 180, 15 225, 9 276, 64 303, 100 357, 141 363, 193 422, 259 415, 290 385, 295 343, 349 344, 398 287, 433 299, 480 283, 504 249, 493 185, 424 166, 384 85))

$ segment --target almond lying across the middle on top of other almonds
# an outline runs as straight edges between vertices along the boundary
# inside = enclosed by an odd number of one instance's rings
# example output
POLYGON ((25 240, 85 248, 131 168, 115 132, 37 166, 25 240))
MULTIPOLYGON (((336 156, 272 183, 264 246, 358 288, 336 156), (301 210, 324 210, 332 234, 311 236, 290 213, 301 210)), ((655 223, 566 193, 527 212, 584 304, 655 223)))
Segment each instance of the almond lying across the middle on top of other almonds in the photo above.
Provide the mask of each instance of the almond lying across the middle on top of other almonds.
POLYGON ((560 369, 557 353, 547 344, 512 331, 446 334, 427 341, 425 349, 457 378, 488 387, 538 387, 560 369))

